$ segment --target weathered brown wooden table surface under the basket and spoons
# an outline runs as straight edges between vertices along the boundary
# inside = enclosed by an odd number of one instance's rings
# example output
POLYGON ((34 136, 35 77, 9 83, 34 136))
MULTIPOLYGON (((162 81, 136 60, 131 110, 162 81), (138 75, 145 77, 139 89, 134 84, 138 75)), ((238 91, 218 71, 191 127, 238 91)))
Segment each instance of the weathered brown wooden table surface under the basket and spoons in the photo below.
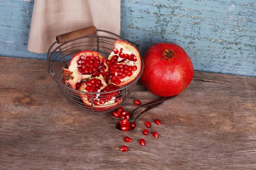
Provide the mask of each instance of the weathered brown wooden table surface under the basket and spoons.
MULTIPOLYGON (((0 170, 256 169, 255 77, 195 72, 182 94, 119 132, 110 114, 69 104, 46 61, 0 57, 0 70, 0 170), (157 118, 144 136, 144 122, 157 118)), ((123 106, 157 98, 137 84, 123 106)))

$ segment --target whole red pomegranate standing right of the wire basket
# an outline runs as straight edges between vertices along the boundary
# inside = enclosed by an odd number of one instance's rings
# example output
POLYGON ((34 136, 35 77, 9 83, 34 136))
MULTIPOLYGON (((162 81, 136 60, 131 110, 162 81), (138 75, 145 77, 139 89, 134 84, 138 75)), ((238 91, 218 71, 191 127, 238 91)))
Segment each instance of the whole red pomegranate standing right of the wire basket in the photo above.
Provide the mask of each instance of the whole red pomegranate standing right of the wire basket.
POLYGON ((189 56, 177 44, 150 46, 143 60, 144 72, 140 82, 155 95, 167 97, 180 94, 189 86, 194 75, 189 56))

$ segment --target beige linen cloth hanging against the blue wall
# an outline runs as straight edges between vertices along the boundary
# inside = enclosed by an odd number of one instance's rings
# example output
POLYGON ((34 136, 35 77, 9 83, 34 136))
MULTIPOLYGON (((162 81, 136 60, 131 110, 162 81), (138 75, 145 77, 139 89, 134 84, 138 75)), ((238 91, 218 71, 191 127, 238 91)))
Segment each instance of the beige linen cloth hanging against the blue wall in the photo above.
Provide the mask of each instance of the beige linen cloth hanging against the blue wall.
POLYGON ((47 53, 57 35, 93 25, 119 35, 120 3, 120 0, 35 0, 27 49, 47 53))

